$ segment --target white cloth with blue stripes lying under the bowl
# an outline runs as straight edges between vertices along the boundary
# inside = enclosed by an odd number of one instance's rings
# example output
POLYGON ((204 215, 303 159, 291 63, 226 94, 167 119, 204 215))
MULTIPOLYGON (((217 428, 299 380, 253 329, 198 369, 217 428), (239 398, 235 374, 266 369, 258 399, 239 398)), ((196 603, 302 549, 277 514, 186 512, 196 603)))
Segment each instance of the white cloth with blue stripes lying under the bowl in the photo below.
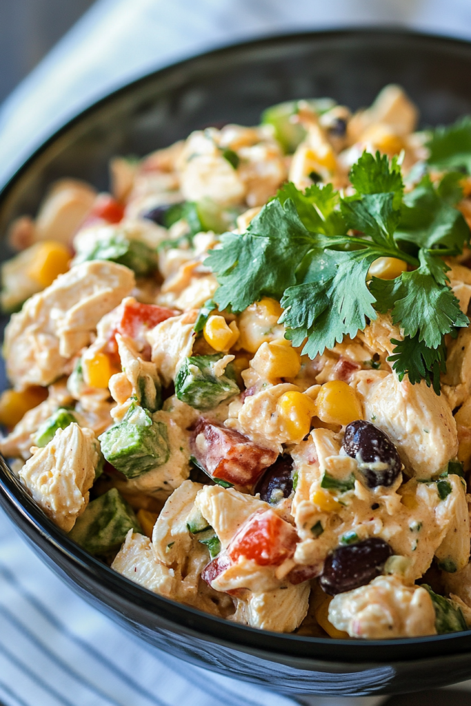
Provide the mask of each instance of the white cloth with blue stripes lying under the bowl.
MULTIPOLYGON (((280 32, 394 23, 471 37, 470 0, 99 0, 0 109, 0 186, 76 112, 207 49, 280 32)), ((0 700, 6 706, 290 706, 184 664, 78 598, 0 513, 0 700)), ((299 698, 378 706, 382 697, 299 698)))

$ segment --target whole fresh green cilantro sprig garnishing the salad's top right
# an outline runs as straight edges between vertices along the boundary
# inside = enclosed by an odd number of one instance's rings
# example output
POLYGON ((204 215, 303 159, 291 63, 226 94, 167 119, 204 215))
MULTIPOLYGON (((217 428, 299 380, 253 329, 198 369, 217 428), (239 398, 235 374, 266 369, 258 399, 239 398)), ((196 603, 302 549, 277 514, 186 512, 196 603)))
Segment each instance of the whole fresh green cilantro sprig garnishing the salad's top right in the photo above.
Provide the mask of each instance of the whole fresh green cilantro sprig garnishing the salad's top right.
POLYGON ((223 235, 205 261, 220 284, 214 301, 237 312, 263 296, 278 299, 286 337, 295 346, 304 342, 311 358, 390 311, 403 332, 403 340, 393 340, 393 368, 400 379, 424 379, 439 394, 444 336, 469 324, 443 261, 470 241, 453 208, 458 177, 446 174, 436 186, 425 174, 404 194, 398 160, 364 152, 350 181, 352 196, 332 184, 304 192, 285 184, 246 233, 223 235), (370 265, 380 257, 405 261, 409 271, 371 279, 370 265))

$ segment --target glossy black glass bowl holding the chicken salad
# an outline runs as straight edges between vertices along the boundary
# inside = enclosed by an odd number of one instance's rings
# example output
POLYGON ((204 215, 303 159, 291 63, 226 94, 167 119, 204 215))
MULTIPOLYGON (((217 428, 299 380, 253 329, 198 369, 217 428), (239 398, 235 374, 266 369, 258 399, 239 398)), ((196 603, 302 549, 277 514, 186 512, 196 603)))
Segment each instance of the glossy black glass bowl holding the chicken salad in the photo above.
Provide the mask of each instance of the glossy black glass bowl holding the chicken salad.
MULTIPOLYGON (((208 125, 256 124, 282 100, 331 96, 356 109, 386 83, 404 86, 422 126, 471 114, 471 44, 386 30, 318 32, 239 44, 157 71, 97 102, 25 162, 0 194, 0 232, 13 217, 34 214, 54 179, 106 189, 112 155, 144 155, 208 125)), ((71 542, 0 463, 0 503, 37 554, 88 602, 183 659, 292 694, 393 693, 471 676, 470 630, 375 642, 306 638, 161 598, 71 542)))

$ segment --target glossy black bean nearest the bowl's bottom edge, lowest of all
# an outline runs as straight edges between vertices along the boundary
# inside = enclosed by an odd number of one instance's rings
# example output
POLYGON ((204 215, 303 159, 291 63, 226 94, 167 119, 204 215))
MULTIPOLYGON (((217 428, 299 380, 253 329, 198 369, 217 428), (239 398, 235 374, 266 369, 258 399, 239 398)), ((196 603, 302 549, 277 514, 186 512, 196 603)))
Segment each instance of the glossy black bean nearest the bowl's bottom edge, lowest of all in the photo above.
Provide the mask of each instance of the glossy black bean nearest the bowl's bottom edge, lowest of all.
POLYGON ((381 574, 391 554, 389 544, 379 537, 338 546, 326 558, 321 586, 331 596, 364 586, 381 574))

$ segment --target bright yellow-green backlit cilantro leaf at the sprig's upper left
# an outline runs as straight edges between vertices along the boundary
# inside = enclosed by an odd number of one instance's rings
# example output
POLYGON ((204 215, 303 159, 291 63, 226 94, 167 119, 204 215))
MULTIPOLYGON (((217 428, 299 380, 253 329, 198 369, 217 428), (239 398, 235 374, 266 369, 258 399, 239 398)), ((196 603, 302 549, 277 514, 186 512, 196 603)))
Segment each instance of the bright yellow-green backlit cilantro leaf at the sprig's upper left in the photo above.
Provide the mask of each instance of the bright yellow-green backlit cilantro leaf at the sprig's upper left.
POLYGON ((347 232, 347 226, 338 210, 339 194, 332 184, 313 184, 303 193, 290 181, 278 191, 276 198, 282 204, 290 198, 299 218, 313 233, 342 235, 347 232))

